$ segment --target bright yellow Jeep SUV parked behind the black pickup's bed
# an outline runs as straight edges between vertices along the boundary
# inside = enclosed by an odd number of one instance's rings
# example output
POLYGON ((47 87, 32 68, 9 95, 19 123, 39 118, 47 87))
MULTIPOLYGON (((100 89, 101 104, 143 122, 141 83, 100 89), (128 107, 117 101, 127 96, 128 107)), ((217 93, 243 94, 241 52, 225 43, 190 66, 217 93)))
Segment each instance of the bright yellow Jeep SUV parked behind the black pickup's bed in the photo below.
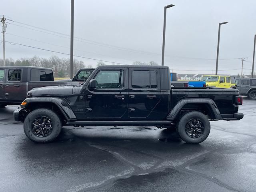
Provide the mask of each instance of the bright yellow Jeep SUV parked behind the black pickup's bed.
POLYGON ((200 81, 205 81, 208 87, 234 88, 236 89, 236 78, 228 75, 204 75, 200 81))

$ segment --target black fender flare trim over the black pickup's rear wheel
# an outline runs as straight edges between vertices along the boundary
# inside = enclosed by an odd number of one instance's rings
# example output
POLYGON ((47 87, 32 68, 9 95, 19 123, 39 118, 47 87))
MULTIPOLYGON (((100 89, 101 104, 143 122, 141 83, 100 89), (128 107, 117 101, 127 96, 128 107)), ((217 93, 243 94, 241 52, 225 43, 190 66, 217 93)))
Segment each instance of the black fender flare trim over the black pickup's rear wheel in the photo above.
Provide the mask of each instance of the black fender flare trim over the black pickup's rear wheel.
POLYGON ((208 106, 210 106, 210 109, 212 110, 212 112, 215 116, 214 119, 218 119, 218 120, 222 119, 220 111, 219 111, 217 105, 215 104, 214 100, 212 100, 210 98, 202 98, 202 99, 186 98, 186 99, 180 100, 174 106, 174 108, 168 114, 167 120, 174 120, 176 118, 176 116, 178 115, 178 113, 180 112, 180 110, 182 109, 182 107, 186 104, 189 104, 189 103, 193 103, 193 104, 194 103, 204 103, 204 104, 207 104, 208 106))

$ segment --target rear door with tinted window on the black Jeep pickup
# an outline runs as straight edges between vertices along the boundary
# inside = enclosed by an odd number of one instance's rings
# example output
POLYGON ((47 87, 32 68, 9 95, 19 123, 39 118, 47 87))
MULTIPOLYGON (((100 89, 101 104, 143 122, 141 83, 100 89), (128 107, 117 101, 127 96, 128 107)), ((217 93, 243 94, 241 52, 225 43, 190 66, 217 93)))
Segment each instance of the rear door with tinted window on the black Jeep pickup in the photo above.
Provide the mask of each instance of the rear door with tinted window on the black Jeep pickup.
POLYGON ((129 68, 128 116, 132 119, 151 120, 161 100, 160 70, 129 68))

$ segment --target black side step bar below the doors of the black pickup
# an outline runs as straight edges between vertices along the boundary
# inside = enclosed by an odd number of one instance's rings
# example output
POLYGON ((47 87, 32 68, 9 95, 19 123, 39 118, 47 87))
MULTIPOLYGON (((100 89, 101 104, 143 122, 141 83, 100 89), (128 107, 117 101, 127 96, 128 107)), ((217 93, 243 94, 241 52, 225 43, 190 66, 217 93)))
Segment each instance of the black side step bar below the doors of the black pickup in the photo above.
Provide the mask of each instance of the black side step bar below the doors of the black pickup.
POLYGON ((73 126, 156 126, 170 124, 171 121, 70 121, 66 125, 73 126))

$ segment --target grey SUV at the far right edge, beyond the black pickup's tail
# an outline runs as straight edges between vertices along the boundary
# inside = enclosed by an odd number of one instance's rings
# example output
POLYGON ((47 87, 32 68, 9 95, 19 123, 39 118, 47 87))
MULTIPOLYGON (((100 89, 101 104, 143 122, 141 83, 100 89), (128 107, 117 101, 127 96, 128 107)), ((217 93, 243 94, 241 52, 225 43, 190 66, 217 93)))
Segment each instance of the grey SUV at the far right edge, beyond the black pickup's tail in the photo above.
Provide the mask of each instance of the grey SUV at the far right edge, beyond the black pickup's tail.
POLYGON ((240 95, 256 99, 256 78, 236 78, 236 84, 240 95))

